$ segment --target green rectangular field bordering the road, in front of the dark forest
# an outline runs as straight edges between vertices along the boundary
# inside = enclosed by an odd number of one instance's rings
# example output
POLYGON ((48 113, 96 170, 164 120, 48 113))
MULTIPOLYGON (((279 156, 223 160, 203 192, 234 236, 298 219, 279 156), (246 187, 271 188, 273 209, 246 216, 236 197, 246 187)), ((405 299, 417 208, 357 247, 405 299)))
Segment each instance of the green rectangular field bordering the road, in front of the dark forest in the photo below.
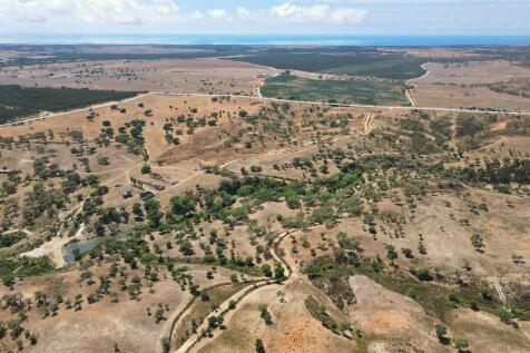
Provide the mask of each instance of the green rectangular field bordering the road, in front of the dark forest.
POLYGON ((362 105, 406 105, 404 88, 382 80, 314 80, 295 76, 269 78, 264 97, 362 105))

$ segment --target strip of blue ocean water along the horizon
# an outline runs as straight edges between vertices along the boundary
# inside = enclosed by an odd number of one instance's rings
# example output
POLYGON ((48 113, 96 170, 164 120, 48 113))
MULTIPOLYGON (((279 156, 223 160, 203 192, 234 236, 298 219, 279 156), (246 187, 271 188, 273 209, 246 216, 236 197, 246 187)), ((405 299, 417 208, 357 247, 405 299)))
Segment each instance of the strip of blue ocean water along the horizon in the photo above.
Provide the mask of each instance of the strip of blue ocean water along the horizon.
POLYGON ((469 46, 530 45, 529 36, 322 36, 322 35, 102 35, 0 33, 0 43, 23 45, 251 45, 251 46, 469 46))

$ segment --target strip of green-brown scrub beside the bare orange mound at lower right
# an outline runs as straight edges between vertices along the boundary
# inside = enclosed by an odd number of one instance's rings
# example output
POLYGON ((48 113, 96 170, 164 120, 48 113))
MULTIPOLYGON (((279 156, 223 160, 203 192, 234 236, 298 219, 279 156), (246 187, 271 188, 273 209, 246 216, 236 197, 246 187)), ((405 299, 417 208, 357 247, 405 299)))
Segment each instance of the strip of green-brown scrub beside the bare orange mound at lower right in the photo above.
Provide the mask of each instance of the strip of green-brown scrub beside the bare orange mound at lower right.
POLYGON ((524 304, 528 300, 526 286, 519 285, 513 291, 514 295, 509 303, 503 303, 494 296, 494 291, 485 283, 475 281, 465 284, 457 283, 459 286, 449 290, 448 278, 438 273, 431 273, 428 268, 410 268, 410 273, 415 277, 413 280, 410 275, 400 274, 394 268, 386 267, 379 256, 363 259, 354 256, 355 261, 345 261, 344 254, 343 251, 335 251, 334 257, 317 257, 304 269, 310 281, 324 291, 338 307, 344 307, 349 304, 346 300, 354 297, 349 286, 349 278, 360 274, 369 276, 390 291, 413 298, 429 314, 442 321, 445 313, 455 306, 470 307, 474 311, 483 310, 509 324, 513 322, 513 318, 530 318, 530 311, 524 304), (439 281, 444 283, 440 285, 439 281))

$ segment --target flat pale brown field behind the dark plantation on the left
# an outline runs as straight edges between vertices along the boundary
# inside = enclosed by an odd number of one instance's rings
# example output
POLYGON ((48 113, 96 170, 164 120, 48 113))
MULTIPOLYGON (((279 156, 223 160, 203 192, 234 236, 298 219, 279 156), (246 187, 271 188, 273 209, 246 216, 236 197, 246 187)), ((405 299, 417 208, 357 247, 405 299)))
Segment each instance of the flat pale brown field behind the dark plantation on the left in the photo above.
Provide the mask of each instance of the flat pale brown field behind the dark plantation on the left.
POLYGON ((3 68, 0 85, 253 95, 258 76, 275 72, 216 58, 78 61, 3 68))

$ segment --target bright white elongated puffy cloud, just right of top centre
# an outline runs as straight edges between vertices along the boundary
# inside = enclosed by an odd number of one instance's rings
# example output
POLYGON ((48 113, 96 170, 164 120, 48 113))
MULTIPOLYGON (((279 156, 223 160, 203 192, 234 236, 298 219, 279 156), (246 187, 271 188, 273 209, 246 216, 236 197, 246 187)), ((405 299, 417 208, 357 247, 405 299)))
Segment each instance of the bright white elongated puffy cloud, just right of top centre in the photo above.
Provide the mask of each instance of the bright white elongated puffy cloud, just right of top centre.
POLYGON ((273 6, 273 16, 286 22, 325 22, 325 23, 359 23, 364 20, 367 11, 355 8, 332 9, 327 4, 297 6, 285 2, 273 6))

